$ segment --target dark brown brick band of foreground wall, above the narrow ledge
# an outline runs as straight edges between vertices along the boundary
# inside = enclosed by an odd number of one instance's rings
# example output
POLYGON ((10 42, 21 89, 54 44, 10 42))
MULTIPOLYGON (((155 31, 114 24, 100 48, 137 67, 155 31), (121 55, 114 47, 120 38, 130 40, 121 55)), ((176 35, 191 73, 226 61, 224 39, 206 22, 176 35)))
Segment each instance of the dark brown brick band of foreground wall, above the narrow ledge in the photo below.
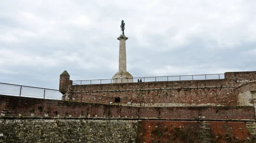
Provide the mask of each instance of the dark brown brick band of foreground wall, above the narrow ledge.
MULTIPOLYGON (((255 120, 254 107, 127 107, 0 95, 1 116, 255 120)), ((1 117, 0 116, 0 117, 1 117)))

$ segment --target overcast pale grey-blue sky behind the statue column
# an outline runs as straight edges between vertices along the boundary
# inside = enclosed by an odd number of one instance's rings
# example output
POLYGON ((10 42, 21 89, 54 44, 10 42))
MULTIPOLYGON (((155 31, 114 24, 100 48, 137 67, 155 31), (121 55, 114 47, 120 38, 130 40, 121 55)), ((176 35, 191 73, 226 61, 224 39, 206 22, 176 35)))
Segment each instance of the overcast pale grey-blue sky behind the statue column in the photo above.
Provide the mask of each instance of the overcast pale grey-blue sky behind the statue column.
POLYGON ((0 82, 58 89, 134 77, 256 70, 256 0, 0 0, 0 82), (207 2, 206 2, 207 1, 207 2))

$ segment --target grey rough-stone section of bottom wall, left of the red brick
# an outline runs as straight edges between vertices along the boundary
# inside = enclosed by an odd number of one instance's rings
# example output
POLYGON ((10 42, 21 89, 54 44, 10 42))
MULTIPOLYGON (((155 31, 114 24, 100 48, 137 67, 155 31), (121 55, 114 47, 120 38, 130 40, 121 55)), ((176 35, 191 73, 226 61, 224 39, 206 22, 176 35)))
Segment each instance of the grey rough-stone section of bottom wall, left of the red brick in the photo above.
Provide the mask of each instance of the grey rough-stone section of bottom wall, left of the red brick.
POLYGON ((136 120, 0 119, 0 143, 136 143, 136 120))

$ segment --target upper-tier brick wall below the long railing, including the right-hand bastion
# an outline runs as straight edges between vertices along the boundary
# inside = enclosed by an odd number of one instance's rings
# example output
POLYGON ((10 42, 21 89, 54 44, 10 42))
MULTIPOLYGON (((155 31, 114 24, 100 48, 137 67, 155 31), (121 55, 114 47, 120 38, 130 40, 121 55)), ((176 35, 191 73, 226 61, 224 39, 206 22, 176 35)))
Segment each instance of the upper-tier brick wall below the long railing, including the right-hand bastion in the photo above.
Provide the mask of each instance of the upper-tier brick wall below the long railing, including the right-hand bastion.
MULTIPOLYGON (((227 72, 225 79, 194 81, 158 81, 143 83, 91 84, 66 86, 65 100, 105 103, 114 102, 115 97, 130 100, 137 106, 175 107, 175 106, 253 106, 251 91, 256 90, 256 72, 227 72), (241 94, 244 84, 250 83, 247 94, 241 94), (81 95, 85 93, 90 95, 81 95), (92 95, 113 97, 97 98, 92 95), (246 100, 244 100, 246 98, 246 100), (97 100, 97 101, 96 101, 97 100), (139 104, 140 103, 140 104, 139 104)), ((60 89, 62 85, 60 85, 60 89)), ((245 91, 242 91, 244 93, 245 91)))

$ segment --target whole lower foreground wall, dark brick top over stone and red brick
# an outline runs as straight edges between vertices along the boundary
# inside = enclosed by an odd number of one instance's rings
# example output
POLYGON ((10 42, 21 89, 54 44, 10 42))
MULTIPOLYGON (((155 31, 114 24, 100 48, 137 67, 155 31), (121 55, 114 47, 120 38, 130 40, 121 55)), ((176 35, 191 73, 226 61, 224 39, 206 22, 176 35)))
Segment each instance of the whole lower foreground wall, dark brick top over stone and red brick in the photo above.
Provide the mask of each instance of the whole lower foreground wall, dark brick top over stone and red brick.
POLYGON ((250 106, 127 107, 0 95, 0 113, 0 142, 256 140, 255 112, 250 106))

